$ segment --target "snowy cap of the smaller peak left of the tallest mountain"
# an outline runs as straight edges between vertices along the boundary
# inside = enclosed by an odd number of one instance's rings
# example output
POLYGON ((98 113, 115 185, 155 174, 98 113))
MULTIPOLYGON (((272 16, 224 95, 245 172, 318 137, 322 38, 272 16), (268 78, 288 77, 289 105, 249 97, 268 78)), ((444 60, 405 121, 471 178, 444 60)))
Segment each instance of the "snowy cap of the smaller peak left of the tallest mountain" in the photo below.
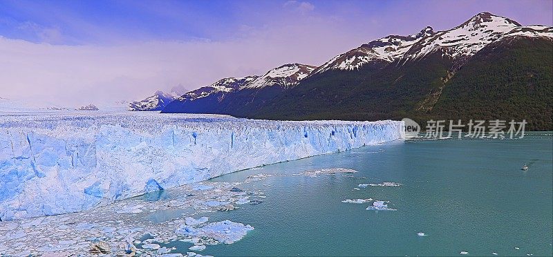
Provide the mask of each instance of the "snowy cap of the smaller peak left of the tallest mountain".
POLYGON ((272 70, 265 75, 258 77, 251 83, 244 84, 242 88, 263 88, 265 86, 282 86, 288 88, 295 86, 301 79, 311 74, 316 66, 306 64, 284 64, 272 70))

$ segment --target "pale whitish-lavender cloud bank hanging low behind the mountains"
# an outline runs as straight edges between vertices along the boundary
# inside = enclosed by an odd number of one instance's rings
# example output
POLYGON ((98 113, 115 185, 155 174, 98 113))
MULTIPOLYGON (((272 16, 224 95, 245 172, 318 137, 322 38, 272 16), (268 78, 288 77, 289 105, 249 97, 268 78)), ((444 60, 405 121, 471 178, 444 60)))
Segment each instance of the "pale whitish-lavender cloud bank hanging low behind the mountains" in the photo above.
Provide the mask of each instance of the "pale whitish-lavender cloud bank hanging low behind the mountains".
POLYGON ((363 43, 365 35, 352 37, 328 19, 306 19, 243 28, 244 37, 229 41, 66 46, 0 37, 0 96, 68 107, 109 104, 178 84, 191 90, 223 77, 261 75, 292 62, 320 65, 363 43))

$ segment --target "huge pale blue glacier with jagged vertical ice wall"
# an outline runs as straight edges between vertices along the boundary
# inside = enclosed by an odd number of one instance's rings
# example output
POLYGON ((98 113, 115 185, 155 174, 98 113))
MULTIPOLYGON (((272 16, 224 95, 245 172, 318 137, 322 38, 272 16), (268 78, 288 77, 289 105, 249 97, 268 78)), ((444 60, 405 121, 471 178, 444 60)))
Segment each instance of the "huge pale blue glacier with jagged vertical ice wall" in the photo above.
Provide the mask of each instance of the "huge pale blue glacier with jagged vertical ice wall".
POLYGON ((402 122, 160 113, 0 115, 0 219, 84 211, 256 166, 404 137, 402 122))

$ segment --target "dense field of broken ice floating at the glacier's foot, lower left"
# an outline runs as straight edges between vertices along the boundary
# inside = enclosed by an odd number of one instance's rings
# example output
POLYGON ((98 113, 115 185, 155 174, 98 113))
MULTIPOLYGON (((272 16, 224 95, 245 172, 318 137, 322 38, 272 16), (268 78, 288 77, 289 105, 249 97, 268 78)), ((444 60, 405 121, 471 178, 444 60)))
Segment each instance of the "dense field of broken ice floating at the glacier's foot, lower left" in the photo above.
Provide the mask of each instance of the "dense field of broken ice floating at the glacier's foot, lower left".
POLYGON ((226 242, 234 242, 239 236, 232 229, 223 229, 218 233, 211 231, 209 233, 214 234, 214 237, 205 236, 203 227, 208 219, 202 217, 203 213, 229 210, 234 205, 210 207, 205 202, 236 203, 241 198, 257 197, 263 191, 232 190, 234 187, 243 188, 246 183, 243 181, 203 183, 214 188, 194 191, 193 185, 185 185, 171 189, 171 198, 163 198, 157 202, 131 198, 81 213, 2 221, 0 255, 90 256, 93 253, 109 252, 111 256, 165 256, 172 248, 164 248, 163 245, 178 240, 194 245, 211 245, 220 243, 214 238, 222 243, 225 236, 228 236, 226 242), (135 209, 140 209, 141 212, 135 213, 135 209), (151 216, 169 218, 152 222, 151 216), (199 229, 203 236, 182 236, 174 233, 174 228, 187 224, 191 225, 191 229, 199 229), (229 235, 225 235, 225 231, 229 235), (217 237, 217 234, 220 235, 217 237))

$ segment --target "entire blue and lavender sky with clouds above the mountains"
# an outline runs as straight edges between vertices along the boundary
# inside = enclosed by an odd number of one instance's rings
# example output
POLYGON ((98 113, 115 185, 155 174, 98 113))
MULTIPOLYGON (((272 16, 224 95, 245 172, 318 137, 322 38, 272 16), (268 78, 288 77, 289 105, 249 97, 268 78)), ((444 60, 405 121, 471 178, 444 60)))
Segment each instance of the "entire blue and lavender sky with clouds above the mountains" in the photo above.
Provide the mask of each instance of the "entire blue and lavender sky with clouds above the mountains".
POLYGON ((553 26, 553 1, 0 0, 0 97, 75 107, 319 66, 386 35, 478 12, 553 26))

